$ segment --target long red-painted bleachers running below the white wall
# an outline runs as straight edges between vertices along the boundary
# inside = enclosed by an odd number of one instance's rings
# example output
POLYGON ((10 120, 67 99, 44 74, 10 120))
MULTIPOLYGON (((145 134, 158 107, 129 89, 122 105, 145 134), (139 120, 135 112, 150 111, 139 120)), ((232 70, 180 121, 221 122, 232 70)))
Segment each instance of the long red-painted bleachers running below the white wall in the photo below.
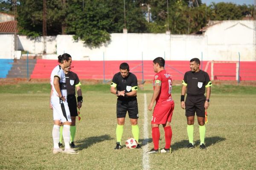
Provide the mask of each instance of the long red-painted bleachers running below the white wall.
MULTIPOLYGON (((71 71, 78 74, 80 79, 105 79, 111 80, 119 71, 119 65, 123 61, 72 61, 71 71), (105 68, 105 69, 104 69, 105 68)), ((130 71, 136 74, 139 80, 151 80, 154 76, 152 61, 125 61, 130 65, 130 71), (143 65, 143 69, 142 69, 143 65), (142 74, 143 71, 143 74, 142 74)), ((256 62, 240 62, 241 80, 256 80, 256 62)), ((58 65, 56 60, 38 59, 31 74, 32 79, 49 79, 52 69, 58 65)), ((202 63, 202 70, 207 71, 211 77, 211 64, 208 61, 202 63)), ((166 61, 166 70, 174 80, 182 80, 183 74, 189 71, 189 61, 166 61)), ((214 79, 236 80, 236 63, 214 64, 214 79)))

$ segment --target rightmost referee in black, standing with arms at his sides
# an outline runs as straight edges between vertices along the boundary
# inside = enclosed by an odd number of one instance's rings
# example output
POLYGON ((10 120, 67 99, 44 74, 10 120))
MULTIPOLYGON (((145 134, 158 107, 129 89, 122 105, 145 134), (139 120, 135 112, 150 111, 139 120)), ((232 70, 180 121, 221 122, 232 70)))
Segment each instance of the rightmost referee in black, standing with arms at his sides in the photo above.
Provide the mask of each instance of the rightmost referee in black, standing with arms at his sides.
POLYGON ((195 113, 198 118, 200 133, 200 149, 206 149, 205 138, 205 110, 209 107, 212 82, 207 72, 199 69, 200 60, 193 58, 190 60, 190 69, 184 75, 181 89, 181 108, 186 110, 187 133, 189 137, 188 148, 194 148, 194 118, 195 113), (206 96, 204 96, 206 91, 206 96), (184 102, 186 96, 186 101, 184 102))

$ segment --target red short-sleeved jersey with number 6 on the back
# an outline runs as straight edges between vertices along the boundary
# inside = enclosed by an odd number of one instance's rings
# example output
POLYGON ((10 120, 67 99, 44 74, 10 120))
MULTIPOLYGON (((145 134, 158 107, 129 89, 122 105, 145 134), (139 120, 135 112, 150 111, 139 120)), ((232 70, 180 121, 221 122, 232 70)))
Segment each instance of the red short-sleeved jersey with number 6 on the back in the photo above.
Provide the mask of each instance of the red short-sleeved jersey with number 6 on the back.
POLYGON ((172 99, 172 78, 166 70, 162 70, 158 72, 154 76, 153 86, 155 88, 156 85, 161 86, 161 90, 156 99, 156 105, 163 102, 173 102, 172 99))

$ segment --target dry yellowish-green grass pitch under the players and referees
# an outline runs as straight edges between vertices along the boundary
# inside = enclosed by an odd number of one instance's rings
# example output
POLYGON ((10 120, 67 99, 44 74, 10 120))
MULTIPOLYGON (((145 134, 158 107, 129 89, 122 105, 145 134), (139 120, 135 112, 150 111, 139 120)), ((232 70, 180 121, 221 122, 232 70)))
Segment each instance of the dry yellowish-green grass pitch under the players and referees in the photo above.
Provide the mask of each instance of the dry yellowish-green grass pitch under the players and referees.
MULTIPOLYGON (((144 149, 114 150, 116 143, 116 97, 109 85, 83 85, 82 121, 77 123, 78 155, 52 154, 52 111, 49 84, 0 86, 0 169, 3 170, 253 170, 256 169, 256 88, 213 86, 208 109, 206 146, 186 149, 186 117, 180 108, 180 86, 173 88, 171 154, 146 155, 153 147, 150 120, 144 104, 150 101, 151 85, 138 91, 140 143, 144 149), (146 96, 146 101, 144 99, 146 96), (146 115, 146 117, 144 116, 146 115), (145 120, 147 120, 145 122, 145 120), (147 138, 144 138, 148 134, 147 138)), ((126 117, 128 118, 128 117, 126 117)), ((196 121, 195 121, 196 122, 196 121)), ((161 130, 160 146, 164 146, 161 130)), ((132 137, 129 121, 122 143, 132 137)))

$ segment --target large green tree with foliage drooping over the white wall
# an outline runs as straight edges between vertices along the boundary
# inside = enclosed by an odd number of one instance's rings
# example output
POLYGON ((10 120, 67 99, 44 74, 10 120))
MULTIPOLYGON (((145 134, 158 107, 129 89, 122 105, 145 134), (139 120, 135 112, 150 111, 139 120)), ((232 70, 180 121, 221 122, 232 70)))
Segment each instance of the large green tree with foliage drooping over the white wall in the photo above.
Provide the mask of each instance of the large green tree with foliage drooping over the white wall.
MULTIPOLYGON (((139 2, 126 0, 125 8, 128 32, 147 31, 147 23, 139 2)), ((67 33, 75 34, 75 40, 81 39, 92 47, 107 42, 110 40, 110 33, 122 32, 124 28, 123 1, 87 0, 84 1, 84 8, 77 1, 70 4, 69 10, 75 13, 67 15, 67 33)))

